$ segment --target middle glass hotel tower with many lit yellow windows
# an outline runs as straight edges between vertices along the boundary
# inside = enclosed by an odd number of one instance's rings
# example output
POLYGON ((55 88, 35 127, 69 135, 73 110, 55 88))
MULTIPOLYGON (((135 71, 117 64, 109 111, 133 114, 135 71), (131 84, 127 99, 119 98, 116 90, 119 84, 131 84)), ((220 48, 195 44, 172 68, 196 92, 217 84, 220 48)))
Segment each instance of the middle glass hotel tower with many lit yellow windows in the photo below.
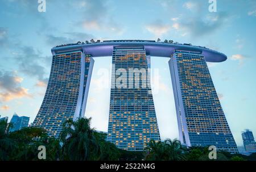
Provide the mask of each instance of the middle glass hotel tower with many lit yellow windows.
POLYGON ((143 151, 151 139, 160 140, 151 86, 147 84, 148 67, 150 57, 143 47, 114 48, 107 140, 118 148, 143 151), (118 72, 120 69, 122 74, 118 72), (144 69, 147 75, 141 73, 139 78, 135 77, 136 74, 128 72, 131 69, 144 69), (126 75, 127 80, 119 87, 116 81, 121 75, 126 75))

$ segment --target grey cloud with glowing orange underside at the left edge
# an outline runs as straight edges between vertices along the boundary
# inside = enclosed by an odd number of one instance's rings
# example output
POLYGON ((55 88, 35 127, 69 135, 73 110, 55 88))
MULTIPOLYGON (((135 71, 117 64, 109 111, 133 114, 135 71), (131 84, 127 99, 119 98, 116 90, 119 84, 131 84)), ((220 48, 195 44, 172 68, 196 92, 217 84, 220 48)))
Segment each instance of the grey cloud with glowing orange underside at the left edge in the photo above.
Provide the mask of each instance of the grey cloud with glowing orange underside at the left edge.
POLYGON ((0 102, 14 100, 16 98, 31 97, 28 89, 20 87, 22 78, 14 72, 0 71, 0 102))

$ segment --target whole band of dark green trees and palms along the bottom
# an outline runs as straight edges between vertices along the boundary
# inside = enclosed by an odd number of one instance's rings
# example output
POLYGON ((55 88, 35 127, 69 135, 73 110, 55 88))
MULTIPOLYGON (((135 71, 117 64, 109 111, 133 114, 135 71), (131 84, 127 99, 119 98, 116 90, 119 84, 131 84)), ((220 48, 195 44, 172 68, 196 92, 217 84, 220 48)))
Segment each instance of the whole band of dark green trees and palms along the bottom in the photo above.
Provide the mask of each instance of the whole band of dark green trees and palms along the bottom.
MULTIPOLYGON (((142 152, 118 149, 106 141, 107 135, 90 128, 90 118, 67 121, 60 138, 49 137, 42 128, 25 127, 9 132, 12 124, 0 121, 0 161, 38 161, 38 147, 46 147, 46 161, 100 160, 100 161, 214 161, 209 160, 208 147, 183 148, 179 140, 151 140, 142 152)), ((215 161, 255 161, 250 156, 217 152, 215 161)))

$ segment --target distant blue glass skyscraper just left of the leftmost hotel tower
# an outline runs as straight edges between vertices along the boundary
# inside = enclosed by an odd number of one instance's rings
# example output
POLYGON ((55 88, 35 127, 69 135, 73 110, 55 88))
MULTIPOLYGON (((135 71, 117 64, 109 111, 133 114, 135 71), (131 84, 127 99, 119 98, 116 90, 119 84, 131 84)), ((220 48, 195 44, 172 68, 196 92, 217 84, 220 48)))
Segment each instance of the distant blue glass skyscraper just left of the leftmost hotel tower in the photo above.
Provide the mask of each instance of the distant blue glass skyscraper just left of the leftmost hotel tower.
POLYGON ((16 113, 14 113, 13 118, 11 118, 10 123, 13 124, 13 127, 10 128, 10 132, 20 130, 23 127, 28 126, 28 122, 30 121, 29 117, 19 117, 16 113))

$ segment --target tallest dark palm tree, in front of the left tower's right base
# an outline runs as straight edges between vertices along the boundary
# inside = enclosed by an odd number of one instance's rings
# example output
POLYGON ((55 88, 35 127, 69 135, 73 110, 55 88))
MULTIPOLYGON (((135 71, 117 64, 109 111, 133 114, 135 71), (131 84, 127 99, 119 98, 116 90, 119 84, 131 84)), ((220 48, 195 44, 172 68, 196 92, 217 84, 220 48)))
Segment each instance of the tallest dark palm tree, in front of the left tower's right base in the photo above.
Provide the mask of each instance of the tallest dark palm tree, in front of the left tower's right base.
POLYGON ((64 159, 85 161, 95 160, 100 154, 99 146, 93 135, 94 128, 90 128, 91 118, 79 118, 64 123, 60 135, 63 144, 64 159))

